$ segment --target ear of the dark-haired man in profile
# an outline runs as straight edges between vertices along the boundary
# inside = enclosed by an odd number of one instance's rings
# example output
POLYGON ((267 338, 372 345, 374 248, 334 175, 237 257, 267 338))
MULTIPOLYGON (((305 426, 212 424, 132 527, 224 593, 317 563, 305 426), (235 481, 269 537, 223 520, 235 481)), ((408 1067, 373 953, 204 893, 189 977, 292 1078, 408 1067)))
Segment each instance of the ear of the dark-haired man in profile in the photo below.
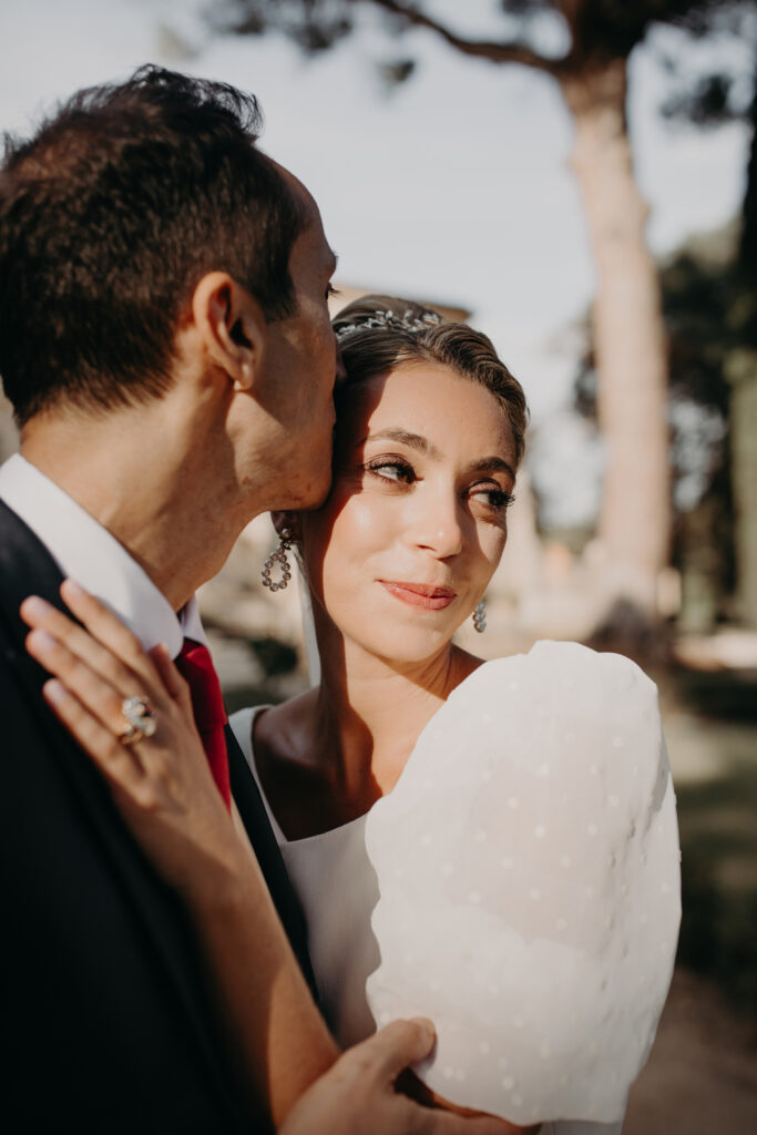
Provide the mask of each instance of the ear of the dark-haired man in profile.
POLYGON ((266 343, 258 301, 228 272, 208 272, 194 289, 192 318, 209 356, 237 390, 250 389, 266 343))

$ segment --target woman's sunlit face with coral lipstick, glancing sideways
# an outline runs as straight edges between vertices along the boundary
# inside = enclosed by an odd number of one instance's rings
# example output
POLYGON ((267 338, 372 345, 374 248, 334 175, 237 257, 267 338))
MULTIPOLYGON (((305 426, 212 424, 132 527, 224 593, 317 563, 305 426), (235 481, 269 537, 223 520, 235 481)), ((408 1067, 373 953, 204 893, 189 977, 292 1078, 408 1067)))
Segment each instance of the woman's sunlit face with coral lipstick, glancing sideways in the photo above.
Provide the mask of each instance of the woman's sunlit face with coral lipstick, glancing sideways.
POLYGON ((372 654, 430 657, 499 563, 514 481, 510 426, 485 387, 439 363, 356 385, 331 494, 302 518, 314 603, 372 654))

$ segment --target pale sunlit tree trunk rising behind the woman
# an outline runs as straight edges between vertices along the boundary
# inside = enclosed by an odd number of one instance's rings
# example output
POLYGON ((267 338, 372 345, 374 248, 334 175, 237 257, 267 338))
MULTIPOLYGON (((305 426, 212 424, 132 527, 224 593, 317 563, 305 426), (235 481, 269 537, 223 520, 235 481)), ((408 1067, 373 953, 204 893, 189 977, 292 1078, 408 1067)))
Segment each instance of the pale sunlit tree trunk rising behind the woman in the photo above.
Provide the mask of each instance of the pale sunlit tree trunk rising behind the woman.
POLYGON ((648 209, 633 179, 625 60, 561 78, 575 123, 572 165, 597 269, 592 310, 597 413, 605 445, 598 536, 608 606, 657 613, 671 499, 667 353, 659 281, 645 238, 648 209))

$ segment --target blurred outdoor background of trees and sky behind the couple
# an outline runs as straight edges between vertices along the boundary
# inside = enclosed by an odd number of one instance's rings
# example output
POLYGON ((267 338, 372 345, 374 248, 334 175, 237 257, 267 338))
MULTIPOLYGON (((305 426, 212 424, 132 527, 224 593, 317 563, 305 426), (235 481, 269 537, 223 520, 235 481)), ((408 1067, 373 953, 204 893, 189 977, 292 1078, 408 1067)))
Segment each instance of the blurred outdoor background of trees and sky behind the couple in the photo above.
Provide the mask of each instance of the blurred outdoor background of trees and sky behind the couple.
MULTIPOLYGON (((521 379, 508 545, 461 638, 658 682, 684 915, 625 1132, 757 1130, 757 2, 0 0, 0 128, 145 61, 258 95, 336 306, 429 302, 521 379)), ((253 522, 201 595, 233 708, 308 681, 274 544, 253 522)))

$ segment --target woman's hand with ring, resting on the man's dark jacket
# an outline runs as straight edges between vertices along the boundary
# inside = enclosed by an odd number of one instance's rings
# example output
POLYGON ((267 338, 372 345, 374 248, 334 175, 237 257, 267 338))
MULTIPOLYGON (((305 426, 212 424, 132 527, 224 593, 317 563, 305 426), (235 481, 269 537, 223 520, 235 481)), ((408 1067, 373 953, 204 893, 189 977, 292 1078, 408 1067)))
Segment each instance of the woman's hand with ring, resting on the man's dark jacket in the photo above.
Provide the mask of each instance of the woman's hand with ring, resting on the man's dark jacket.
POLYGON ((166 881, 187 898, 222 900, 246 849, 213 783, 187 683, 166 647, 145 651, 78 585, 66 580, 60 594, 85 629, 36 596, 20 607, 32 628, 26 648, 54 675, 43 687, 48 704, 92 757, 166 881), (133 696, 148 699, 157 729, 125 745, 121 704, 133 696))

